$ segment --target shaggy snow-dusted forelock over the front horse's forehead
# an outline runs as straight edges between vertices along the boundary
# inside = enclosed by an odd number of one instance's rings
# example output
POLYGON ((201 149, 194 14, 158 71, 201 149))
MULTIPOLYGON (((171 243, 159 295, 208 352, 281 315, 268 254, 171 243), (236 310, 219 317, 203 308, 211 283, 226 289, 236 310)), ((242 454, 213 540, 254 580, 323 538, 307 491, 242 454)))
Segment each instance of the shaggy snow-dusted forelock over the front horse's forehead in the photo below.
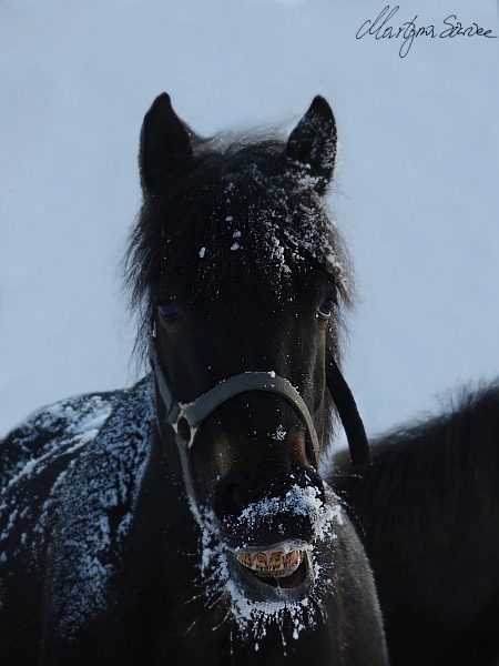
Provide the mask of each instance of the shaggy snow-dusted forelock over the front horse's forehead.
MULTIPOLYGON (((146 359, 154 289, 169 295, 169 285, 181 280, 190 287, 184 295, 207 301, 222 280, 237 280, 224 271, 237 248, 237 270, 253 287, 264 281, 289 297, 296 271, 318 263, 333 275, 342 304, 352 305, 346 246, 325 199, 286 163, 285 145, 276 133, 194 138, 194 155, 163 192, 144 191, 122 265, 130 311, 139 320, 139 365, 146 359)), ((332 346, 339 354, 339 306, 333 321, 332 346)))

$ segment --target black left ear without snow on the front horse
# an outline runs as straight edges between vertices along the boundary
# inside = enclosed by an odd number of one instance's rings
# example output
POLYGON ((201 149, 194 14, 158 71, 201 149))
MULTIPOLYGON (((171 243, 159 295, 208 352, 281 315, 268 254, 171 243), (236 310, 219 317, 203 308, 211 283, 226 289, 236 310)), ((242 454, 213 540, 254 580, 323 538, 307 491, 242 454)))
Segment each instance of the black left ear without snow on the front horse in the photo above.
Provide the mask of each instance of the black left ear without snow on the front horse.
POLYGON ((192 132, 176 115, 170 95, 154 100, 142 124, 139 168, 142 189, 161 191, 169 175, 181 169, 193 152, 192 132))

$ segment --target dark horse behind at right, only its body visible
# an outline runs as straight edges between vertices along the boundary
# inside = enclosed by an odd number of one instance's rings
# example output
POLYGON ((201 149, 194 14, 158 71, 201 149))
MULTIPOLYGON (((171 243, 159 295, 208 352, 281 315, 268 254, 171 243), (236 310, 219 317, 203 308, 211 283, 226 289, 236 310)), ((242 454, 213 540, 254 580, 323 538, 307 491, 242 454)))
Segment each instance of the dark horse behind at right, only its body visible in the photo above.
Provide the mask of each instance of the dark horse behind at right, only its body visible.
POLYGON ((499 384, 336 457, 371 562, 394 666, 499 664, 499 384))

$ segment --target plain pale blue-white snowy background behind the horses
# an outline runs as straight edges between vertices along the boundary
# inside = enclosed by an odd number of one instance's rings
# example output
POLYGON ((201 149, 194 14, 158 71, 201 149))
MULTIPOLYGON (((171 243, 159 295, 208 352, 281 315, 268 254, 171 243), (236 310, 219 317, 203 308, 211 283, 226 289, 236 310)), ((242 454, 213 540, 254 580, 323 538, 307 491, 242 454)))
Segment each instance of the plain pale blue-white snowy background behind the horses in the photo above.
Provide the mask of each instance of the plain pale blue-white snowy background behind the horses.
MULTIPOLYGON (((116 265, 139 131, 170 92, 202 134, 330 102, 333 210, 359 293, 345 374, 369 434, 499 375, 499 39, 356 39, 384 0, 0 2, 0 435, 134 381, 116 265)), ((391 4, 390 8, 395 8, 391 4)), ((496 0, 411 0, 498 34, 496 0)))

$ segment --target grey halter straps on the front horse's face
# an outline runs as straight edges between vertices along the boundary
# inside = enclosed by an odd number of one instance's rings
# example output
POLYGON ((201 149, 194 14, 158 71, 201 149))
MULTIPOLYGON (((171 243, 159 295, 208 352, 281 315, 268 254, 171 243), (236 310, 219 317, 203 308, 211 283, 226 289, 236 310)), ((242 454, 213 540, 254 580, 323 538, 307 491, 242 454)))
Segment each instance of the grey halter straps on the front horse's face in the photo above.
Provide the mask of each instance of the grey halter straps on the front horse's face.
MULTIPOLYGON (((156 396, 157 394, 161 396, 166 414, 165 420, 175 431, 175 441, 181 456, 185 486, 194 504, 197 504, 197 502, 191 474, 190 451, 194 443, 197 427, 220 405, 240 393, 267 391, 277 393, 286 398, 299 414, 306 426, 310 444, 309 454, 312 463, 315 467, 318 467, 320 447, 310 412, 303 397, 288 380, 273 372, 244 372, 223 380, 220 384, 200 395, 191 403, 180 403, 174 397, 170 381, 161 367, 154 336, 151 337, 149 357, 156 386, 156 396)), ((369 465, 371 461, 364 424, 354 396, 336 364, 333 353, 329 354, 329 363, 326 363, 326 384, 347 435, 352 463, 354 465, 369 465)), ((161 424, 159 425, 161 432, 161 424)))

